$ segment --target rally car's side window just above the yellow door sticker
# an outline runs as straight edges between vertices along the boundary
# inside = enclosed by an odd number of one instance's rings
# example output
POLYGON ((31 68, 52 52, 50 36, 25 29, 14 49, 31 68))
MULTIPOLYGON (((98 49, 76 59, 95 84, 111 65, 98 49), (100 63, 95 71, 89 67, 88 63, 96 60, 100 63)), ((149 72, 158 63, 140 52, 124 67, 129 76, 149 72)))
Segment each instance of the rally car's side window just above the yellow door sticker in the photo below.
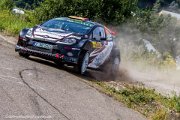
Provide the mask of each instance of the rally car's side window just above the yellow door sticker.
POLYGON ((95 40, 101 40, 106 38, 105 30, 102 27, 97 27, 93 31, 93 39, 95 40))

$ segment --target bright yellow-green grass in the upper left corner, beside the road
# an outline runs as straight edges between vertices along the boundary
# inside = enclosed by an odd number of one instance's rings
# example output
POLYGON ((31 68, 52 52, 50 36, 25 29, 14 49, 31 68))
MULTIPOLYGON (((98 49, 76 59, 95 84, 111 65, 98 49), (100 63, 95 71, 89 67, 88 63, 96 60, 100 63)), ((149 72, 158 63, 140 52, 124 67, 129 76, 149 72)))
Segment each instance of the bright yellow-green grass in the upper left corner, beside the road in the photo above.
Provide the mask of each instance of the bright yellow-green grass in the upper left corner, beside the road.
POLYGON ((31 17, 31 11, 25 10, 25 15, 14 14, 12 12, 14 7, 15 3, 12 0, 0 1, 0 31, 16 36, 23 28, 35 25, 35 22, 31 17))

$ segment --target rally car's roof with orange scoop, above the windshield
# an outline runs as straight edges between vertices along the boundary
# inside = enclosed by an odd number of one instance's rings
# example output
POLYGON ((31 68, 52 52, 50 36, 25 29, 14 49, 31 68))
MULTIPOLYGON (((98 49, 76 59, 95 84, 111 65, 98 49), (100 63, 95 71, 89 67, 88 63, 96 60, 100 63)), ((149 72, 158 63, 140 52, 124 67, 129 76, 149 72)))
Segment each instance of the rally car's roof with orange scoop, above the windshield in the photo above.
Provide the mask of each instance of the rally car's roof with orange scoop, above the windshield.
POLYGON ((78 20, 78 21, 82 21, 82 22, 85 22, 85 23, 89 23, 92 26, 101 26, 101 27, 103 27, 103 25, 101 25, 100 23, 93 22, 93 21, 89 20, 88 18, 82 18, 82 17, 76 17, 76 16, 59 17, 59 18, 54 18, 54 19, 65 20, 65 21, 66 20, 78 20))

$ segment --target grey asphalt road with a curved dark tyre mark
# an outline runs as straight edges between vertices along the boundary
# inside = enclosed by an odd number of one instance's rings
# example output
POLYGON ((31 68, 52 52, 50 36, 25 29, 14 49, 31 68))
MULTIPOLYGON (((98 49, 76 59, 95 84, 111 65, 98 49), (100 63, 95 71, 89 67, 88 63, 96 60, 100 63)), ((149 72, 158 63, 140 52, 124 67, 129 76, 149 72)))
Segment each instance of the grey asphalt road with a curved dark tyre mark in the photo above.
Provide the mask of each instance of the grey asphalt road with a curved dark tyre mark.
POLYGON ((21 58, 0 38, 1 120, 144 120, 49 61, 21 58))

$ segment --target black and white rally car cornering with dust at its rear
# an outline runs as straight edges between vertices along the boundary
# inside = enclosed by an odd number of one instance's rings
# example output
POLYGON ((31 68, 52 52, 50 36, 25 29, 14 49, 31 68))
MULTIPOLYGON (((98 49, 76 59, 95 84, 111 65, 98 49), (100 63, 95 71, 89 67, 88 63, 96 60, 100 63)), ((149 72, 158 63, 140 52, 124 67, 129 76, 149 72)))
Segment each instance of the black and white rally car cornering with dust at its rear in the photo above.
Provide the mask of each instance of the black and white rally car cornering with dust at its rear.
POLYGON ((61 66, 74 66, 80 74, 87 68, 101 69, 111 64, 108 70, 114 75, 120 64, 120 50, 113 38, 107 27, 88 18, 60 17, 23 29, 15 51, 22 57, 32 55, 61 66))

